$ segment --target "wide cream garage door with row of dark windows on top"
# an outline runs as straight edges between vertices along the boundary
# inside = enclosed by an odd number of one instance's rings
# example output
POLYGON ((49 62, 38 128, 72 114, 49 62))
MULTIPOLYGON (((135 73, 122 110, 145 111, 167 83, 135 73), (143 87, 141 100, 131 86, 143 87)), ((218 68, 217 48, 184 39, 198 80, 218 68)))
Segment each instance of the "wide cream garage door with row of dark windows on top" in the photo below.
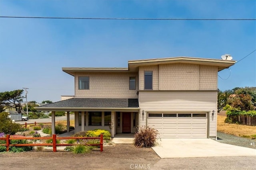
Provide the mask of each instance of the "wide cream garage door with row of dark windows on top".
POLYGON ((161 138, 207 138, 207 113, 148 113, 161 138))

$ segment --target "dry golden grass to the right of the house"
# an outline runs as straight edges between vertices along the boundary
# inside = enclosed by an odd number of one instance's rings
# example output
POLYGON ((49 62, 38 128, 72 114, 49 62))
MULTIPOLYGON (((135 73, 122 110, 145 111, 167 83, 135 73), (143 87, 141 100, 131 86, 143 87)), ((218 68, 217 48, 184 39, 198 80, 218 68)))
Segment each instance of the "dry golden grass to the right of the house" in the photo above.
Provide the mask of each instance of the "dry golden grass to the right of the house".
POLYGON ((256 126, 224 123, 226 116, 218 115, 217 131, 239 137, 256 138, 256 126))

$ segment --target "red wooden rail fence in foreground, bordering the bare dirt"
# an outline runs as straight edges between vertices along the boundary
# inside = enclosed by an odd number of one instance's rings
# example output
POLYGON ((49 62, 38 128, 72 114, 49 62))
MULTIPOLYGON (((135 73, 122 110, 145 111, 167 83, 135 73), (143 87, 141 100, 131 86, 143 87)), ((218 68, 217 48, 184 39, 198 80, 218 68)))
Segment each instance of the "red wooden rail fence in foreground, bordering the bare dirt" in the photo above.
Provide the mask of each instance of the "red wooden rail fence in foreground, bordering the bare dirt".
POLYGON ((56 134, 53 134, 52 137, 10 137, 10 135, 6 135, 6 137, 0 137, 0 140, 6 141, 6 144, 0 144, 6 146, 6 151, 9 151, 9 147, 24 147, 24 146, 52 146, 53 152, 57 151, 57 146, 74 146, 74 144, 68 143, 56 143, 56 139, 99 139, 100 143, 98 144, 83 144, 90 146, 100 146, 100 152, 103 151, 103 134, 100 134, 100 137, 56 137, 56 134), (26 144, 10 144, 10 140, 20 140, 20 139, 52 139, 52 143, 26 143, 26 144))

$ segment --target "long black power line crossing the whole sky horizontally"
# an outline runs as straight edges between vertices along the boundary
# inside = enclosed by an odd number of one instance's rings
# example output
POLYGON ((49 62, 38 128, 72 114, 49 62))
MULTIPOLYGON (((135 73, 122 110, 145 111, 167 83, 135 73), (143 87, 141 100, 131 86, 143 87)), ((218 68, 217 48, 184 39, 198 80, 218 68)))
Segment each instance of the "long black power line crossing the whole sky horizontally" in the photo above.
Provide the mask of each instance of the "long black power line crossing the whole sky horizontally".
POLYGON ((26 16, 0 16, 0 18, 32 18, 32 19, 71 19, 71 20, 238 20, 238 21, 252 21, 256 18, 76 18, 76 17, 26 17, 26 16))

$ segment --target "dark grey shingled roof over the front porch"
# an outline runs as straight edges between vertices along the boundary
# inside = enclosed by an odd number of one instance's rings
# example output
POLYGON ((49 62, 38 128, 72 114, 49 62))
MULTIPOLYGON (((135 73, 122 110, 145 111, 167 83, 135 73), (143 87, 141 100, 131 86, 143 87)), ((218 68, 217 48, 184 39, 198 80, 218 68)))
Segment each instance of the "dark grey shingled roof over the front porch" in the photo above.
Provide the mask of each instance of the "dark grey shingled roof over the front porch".
POLYGON ((138 110, 138 99, 123 98, 71 98, 35 107, 38 111, 124 111, 138 110))

